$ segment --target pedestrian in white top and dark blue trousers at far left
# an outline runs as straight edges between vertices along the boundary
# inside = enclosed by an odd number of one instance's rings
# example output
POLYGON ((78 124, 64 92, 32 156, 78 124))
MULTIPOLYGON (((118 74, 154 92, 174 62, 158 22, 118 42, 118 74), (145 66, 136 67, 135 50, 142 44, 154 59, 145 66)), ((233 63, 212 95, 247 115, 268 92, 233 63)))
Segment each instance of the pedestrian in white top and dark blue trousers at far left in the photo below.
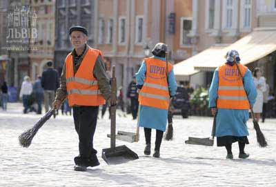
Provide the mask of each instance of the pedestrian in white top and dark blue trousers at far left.
POLYGON ((28 113, 28 109, 30 109, 30 95, 32 94, 32 83, 30 82, 30 77, 25 76, 24 81, 21 84, 21 90, 19 93, 19 97, 22 98, 23 101, 23 113, 28 113))

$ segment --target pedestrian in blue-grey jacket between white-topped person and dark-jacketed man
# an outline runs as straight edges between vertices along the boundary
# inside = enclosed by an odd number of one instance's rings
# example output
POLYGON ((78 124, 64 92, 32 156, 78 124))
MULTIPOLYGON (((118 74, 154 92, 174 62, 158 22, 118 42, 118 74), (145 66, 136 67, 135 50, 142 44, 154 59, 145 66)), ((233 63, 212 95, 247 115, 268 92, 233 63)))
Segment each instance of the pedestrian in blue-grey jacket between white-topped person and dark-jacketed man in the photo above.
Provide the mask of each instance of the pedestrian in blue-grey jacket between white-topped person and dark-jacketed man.
POLYGON ((41 104, 43 101, 43 88, 41 86, 41 77, 37 77, 34 81, 34 86, 32 86, 32 92, 34 93, 35 100, 37 101, 37 114, 41 115, 41 104))

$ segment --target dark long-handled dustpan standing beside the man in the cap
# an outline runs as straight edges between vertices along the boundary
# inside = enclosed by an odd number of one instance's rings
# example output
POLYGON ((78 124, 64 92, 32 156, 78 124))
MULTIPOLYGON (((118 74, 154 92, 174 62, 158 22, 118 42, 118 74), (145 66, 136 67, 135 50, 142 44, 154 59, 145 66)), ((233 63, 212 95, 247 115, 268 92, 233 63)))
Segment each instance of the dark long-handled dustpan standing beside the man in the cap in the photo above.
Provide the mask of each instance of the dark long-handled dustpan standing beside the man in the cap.
MULTIPOLYGON (((112 66, 111 79, 111 103, 117 100, 117 81, 115 77, 115 66, 112 66)), ((139 159, 138 155, 127 146, 116 146, 116 106, 111 106, 111 128, 110 128, 110 148, 104 148, 101 157, 107 164, 122 164, 124 162, 139 159)))

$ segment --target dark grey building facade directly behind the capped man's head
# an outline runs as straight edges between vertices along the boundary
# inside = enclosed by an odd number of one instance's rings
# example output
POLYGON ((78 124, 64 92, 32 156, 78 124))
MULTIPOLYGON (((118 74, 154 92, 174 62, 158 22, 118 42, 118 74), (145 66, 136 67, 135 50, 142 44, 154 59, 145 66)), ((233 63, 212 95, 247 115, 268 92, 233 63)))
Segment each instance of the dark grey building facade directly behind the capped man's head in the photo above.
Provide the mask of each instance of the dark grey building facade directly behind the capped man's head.
POLYGON ((94 3, 94 0, 56 1, 54 63, 59 73, 61 73, 66 56, 72 51, 69 38, 71 26, 86 27, 88 29, 88 45, 94 46, 94 3))

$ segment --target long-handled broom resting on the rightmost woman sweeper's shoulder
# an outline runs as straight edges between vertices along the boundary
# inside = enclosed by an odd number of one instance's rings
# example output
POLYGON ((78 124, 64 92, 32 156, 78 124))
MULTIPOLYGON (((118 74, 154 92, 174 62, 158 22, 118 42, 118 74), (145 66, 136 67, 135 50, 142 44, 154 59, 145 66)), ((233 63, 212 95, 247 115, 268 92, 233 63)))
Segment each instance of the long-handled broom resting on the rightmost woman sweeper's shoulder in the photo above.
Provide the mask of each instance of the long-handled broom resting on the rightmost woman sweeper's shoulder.
MULTIPOLYGON (((234 57, 234 59, 236 59, 236 57, 234 57)), ((237 66, 237 70, 239 72, 239 76, 242 78, 242 73, 241 73, 241 70, 239 70, 239 66, 237 64, 237 61, 235 61, 235 63, 236 63, 236 66, 237 66)), ((244 86, 244 84, 243 84, 243 86, 244 86)), ((247 93, 246 93, 246 97, 248 99, 247 93)), ((249 101, 249 99, 248 99, 248 101, 249 101)), ((263 134, 261 128, 259 128, 259 124, 258 124, 257 119, 255 118, 253 108, 250 108, 250 110, 251 110, 251 114, 252 114, 252 117, 253 117, 254 129, 256 130, 257 142, 259 143, 259 146, 266 147, 268 144, 266 142, 266 138, 264 137, 264 134, 263 134)))

